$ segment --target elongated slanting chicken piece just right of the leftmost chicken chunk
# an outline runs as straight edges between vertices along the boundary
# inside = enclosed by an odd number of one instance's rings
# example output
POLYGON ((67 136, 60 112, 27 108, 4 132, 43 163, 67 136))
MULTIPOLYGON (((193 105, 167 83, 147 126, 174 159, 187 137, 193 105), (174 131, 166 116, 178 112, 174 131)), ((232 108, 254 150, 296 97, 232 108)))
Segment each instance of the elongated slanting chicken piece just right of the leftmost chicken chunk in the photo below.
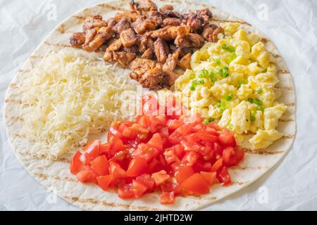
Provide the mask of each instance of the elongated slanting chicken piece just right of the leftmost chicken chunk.
POLYGON ((113 30, 111 27, 101 27, 91 41, 85 41, 82 49, 85 51, 96 51, 102 44, 104 44, 104 41, 111 39, 111 37, 113 37, 113 30))

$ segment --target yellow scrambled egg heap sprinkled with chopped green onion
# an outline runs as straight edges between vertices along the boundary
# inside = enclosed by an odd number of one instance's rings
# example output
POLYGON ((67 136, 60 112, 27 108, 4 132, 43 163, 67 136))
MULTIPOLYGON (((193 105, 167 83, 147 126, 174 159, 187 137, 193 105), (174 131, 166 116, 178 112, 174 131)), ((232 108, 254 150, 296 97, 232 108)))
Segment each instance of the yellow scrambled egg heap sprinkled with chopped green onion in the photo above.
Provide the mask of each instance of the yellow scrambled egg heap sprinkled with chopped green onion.
POLYGON ((240 29, 239 23, 220 26, 225 37, 193 54, 192 70, 176 80, 175 90, 192 111, 234 131, 238 143, 252 134, 253 149, 267 148, 282 136, 276 127, 287 110, 277 102, 275 59, 258 34, 240 29))

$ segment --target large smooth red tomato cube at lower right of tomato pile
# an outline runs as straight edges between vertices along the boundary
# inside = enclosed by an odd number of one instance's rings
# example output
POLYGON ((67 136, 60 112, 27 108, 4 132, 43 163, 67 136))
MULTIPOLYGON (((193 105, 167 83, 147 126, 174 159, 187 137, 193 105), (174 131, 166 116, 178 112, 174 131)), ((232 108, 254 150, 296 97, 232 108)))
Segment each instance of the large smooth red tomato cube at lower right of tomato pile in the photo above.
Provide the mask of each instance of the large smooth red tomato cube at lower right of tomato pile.
POLYGON ((202 195, 209 193, 209 184, 205 181, 201 174, 196 173, 189 176, 185 181, 180 184, 180 187, 189 194, 202 195))

